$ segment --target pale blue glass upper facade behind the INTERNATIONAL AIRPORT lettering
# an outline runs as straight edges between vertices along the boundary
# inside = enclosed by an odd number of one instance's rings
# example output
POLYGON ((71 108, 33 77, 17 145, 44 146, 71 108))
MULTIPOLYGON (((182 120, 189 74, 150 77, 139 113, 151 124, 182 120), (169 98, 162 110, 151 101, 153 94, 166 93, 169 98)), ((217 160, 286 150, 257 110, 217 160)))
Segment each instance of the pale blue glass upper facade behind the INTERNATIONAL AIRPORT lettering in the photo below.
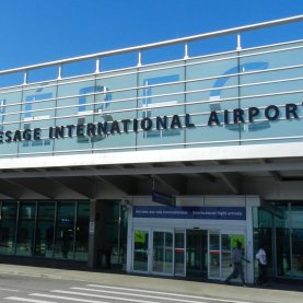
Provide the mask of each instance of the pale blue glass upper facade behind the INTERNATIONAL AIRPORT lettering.
POLYGON ((0 89, 1 158, 302 141, 303 43, 0 89))

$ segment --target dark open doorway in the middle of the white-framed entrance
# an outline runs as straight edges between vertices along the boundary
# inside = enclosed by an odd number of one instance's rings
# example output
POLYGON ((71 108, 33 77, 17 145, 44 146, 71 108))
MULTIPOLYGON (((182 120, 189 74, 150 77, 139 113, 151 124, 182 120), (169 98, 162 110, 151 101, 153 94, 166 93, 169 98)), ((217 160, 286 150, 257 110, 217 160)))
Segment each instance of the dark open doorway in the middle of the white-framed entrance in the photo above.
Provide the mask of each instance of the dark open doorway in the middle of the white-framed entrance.
POLYGON ((207 277, 207 231, 186 231, 186 276, 207 277))

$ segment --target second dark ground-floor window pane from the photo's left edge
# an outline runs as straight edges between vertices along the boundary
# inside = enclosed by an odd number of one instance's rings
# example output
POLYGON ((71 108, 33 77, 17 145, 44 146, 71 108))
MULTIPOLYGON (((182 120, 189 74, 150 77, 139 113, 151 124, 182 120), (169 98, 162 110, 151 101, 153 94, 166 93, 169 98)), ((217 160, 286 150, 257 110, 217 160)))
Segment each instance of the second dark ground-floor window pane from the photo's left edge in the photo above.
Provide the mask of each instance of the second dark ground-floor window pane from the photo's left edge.
POLYGON ((35 232, 35 202, 21 202, 16 233, 16 255, 31 256, 33 254, 35 232))

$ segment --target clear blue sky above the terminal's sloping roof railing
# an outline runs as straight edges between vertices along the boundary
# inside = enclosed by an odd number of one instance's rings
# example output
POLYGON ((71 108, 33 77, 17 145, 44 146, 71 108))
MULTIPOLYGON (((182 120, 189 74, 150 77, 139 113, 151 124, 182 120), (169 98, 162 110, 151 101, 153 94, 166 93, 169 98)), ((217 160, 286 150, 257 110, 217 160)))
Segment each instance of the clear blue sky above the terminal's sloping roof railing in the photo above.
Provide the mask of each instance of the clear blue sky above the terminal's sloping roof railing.
MULTIPOLYGON (((302 0, 0 0, 0 70, 302 13, 302 0)), ((300 28, 243 43, 302 38, 300 28)))

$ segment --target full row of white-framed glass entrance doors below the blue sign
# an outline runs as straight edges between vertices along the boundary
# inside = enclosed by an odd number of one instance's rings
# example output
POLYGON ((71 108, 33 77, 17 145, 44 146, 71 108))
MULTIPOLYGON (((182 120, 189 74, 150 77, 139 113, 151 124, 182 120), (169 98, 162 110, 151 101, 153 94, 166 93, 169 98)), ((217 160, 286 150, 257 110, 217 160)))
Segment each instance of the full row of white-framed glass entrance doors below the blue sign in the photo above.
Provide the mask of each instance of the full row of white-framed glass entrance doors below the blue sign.
POLYGON ((132 270, 223 280, 231 272, 231 253, 238 241, 245 248, 244 233, 138 228, 133 230, 132 270))

